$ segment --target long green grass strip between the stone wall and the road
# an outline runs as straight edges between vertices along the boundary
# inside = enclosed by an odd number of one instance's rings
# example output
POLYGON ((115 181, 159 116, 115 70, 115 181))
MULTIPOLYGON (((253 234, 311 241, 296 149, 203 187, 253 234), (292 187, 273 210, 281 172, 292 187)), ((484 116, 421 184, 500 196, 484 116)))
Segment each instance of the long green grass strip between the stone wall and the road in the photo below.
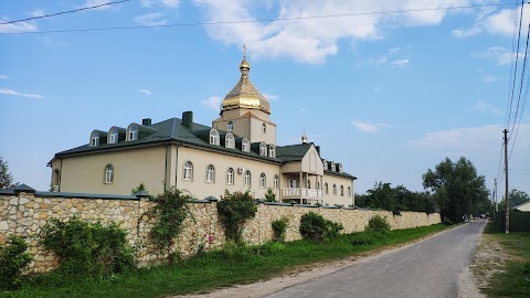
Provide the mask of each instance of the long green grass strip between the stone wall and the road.
MULTIPOLYGON (((340 235, 321 243, 296 241, 285 244, 235 247, 209 252, 201 257, 180 262, 173 266, 139 268, 116 275, 108 280, 68 280, 54 274, 26 278, 22 289, 0 292, 1 297, 160 297, 205 292, 236 284, 269 279, 297 266, 344 258, 368 251, 406 243, 446 230, 446 225, 432 225, 391 231, 374 235, 372 245, 352 245, 358 233, 340 235)), ((373 236, 373 235, 372 235, 373 236)))

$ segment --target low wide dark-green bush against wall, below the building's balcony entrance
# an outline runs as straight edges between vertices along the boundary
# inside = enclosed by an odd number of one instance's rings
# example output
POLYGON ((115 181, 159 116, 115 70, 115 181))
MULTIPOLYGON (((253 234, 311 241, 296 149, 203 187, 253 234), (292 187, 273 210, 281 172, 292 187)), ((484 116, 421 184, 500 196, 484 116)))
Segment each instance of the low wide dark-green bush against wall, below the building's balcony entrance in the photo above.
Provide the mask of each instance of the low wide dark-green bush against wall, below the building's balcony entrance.
POLYGON ((315 212, 309 212, 301 216, 299 231, 306 240, 321 241, 336 237, 342 228, 342 224, 328 221, 315 212))

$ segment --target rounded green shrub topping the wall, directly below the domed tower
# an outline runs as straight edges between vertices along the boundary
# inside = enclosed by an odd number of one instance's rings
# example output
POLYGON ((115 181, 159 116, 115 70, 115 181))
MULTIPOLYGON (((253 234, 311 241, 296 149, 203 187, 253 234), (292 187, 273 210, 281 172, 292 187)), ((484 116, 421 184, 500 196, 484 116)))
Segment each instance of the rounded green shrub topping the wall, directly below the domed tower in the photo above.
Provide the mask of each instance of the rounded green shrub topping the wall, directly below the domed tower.
POLYGON ((248 220, 254 219, 256 212, 257 206, 251 190, 244 193, 240 191, 230 193, 226 190, 218 203, 219 219, 224 226, 226 240, 241 244, 243 227, 248 220))

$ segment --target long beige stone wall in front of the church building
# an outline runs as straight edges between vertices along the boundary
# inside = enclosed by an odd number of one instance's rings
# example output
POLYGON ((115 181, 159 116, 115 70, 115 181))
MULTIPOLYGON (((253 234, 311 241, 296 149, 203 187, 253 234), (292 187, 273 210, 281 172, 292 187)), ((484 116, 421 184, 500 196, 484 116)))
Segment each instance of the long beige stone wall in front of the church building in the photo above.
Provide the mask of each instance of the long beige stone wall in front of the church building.
MULTIPOLYGON (((28 273, 44 273, 59 264, 59 258, 44 247, 39 246, 41 227, 50 219, 66 220, 73 215, 86 221, 117 222, 128 232, 128 241, 138 247, 138 260, 147 264, 163 259, 149 243, 149 230, 152 222, 145 215, 152 206, 147 198, 134 195, 97 195, 80 193, 50 193, 24 191, 0 191, 0 243, 10 234, 24 236, 30 244, 32 263, 28 273)), ((219 222, 215 201, 190 203, 191 216, 186 220, 183 231, 174 251, 182 256, 197 253, 203 243, 208 249, 224 244, 224 232, 219 222), (210 243, 209 237, 213 241, 210 243)), ((441 223, 438 213, 403 212, 394 216, 388 211, 370 211, 339 207, 298 206, 288 204, 258 204, 256 217, 251 220, 244 231, 244 240, 250 244, 259 244, 273 238, 271 223, 282 216, 289 219, 286 241, 301 238, 298 232, 300 219, 308 212, 339 222, 344 226, 342 233, 363 231, 369 220, 380 214, 389 220, 391 228, 410 228, 441 223)))

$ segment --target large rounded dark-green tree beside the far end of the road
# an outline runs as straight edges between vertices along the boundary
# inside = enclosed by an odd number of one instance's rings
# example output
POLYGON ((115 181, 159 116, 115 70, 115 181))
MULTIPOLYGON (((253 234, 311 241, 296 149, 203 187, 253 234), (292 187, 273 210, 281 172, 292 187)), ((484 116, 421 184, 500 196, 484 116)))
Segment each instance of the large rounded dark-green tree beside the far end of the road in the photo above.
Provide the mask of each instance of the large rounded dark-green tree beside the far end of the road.
POLYGON ((423 174, 423 187, 434 192, 442 216, 454 222, 464 214, 487 212, 490 207, 484 175, 464 157, 453 162, 449 158, 435 170, 423 174))

